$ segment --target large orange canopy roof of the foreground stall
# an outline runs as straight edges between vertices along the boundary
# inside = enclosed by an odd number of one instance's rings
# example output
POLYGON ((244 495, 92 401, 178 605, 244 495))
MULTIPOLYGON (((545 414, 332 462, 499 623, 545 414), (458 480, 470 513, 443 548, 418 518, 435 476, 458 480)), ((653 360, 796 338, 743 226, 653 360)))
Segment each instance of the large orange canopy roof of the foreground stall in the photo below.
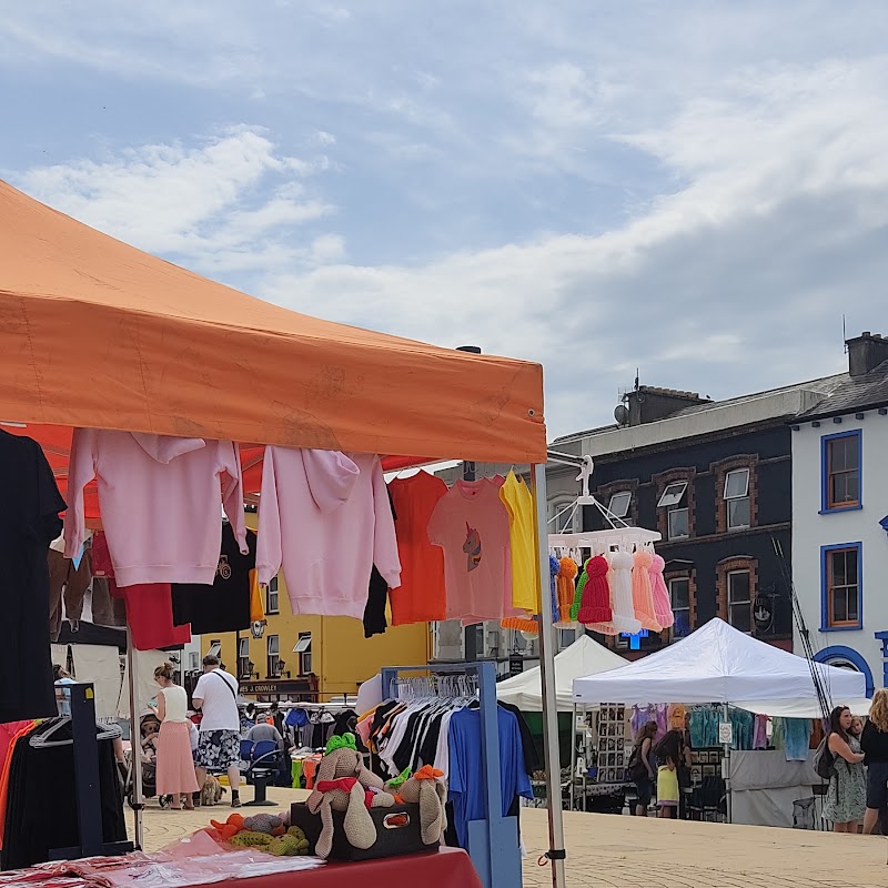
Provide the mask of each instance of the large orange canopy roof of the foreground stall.
POLYGON ((0 246, 0 422, 26 424, 62 480, 73 426, 545 462, 537 364, 287 311, 2 181, 0 246))

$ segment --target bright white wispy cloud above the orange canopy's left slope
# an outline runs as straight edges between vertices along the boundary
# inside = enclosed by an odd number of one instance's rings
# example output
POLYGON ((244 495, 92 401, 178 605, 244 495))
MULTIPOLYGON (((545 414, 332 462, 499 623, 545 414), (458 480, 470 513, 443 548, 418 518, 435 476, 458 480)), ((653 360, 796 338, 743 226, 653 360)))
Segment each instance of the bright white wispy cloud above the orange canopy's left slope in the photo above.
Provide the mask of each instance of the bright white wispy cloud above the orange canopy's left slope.
POLYGON ((102 162, 32 169, 19 178, 34 196, 150 252, 204 271, 293 268, 313 248, 291 234, 335 208, 304 181, 324 162, 280 153, 240 127, 203 140, 130 149, 102 162))

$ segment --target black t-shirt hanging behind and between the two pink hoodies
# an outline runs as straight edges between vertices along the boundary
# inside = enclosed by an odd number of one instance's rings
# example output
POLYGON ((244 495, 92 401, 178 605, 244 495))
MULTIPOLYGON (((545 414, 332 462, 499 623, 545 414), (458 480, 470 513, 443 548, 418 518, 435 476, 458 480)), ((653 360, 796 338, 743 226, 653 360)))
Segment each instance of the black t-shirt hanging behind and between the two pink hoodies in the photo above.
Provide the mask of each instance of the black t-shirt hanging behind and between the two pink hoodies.
POLYGON ((250 572, 256 566, 256 535, 246 532, 248 555, 225 522, 222 552, 212 586, 173 583, 173 625, 191 624, 192 635, 238 632, 250 628, 250 572))

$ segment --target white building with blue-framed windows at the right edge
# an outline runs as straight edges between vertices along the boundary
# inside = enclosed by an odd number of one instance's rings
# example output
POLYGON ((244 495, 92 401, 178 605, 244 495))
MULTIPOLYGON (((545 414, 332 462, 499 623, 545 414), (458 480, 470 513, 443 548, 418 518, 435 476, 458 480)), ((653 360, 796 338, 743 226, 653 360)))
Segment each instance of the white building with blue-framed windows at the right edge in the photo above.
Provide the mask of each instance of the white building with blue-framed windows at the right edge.
POLYGON ((847 380, 793 425, 793 581, 816 659, 871 692, 888 686, 888 339, 847 345, 847 380))

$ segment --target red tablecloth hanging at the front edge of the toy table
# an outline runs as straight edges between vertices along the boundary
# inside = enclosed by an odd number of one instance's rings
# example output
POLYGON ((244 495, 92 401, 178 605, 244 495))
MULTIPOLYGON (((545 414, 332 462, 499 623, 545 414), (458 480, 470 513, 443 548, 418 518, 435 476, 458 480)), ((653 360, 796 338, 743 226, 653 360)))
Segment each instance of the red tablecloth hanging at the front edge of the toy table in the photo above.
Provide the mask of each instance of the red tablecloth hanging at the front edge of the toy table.
POLYGON ((229 888, 393 888, 405 885, 416 888, 482 888, 481 879, 468 855, 460 848, 442 848, 435 854, 385 857, 357 864, 326 864, 320 869, 300 874, 258 876, 254 879, 230 879, 218 882, 229 888))

